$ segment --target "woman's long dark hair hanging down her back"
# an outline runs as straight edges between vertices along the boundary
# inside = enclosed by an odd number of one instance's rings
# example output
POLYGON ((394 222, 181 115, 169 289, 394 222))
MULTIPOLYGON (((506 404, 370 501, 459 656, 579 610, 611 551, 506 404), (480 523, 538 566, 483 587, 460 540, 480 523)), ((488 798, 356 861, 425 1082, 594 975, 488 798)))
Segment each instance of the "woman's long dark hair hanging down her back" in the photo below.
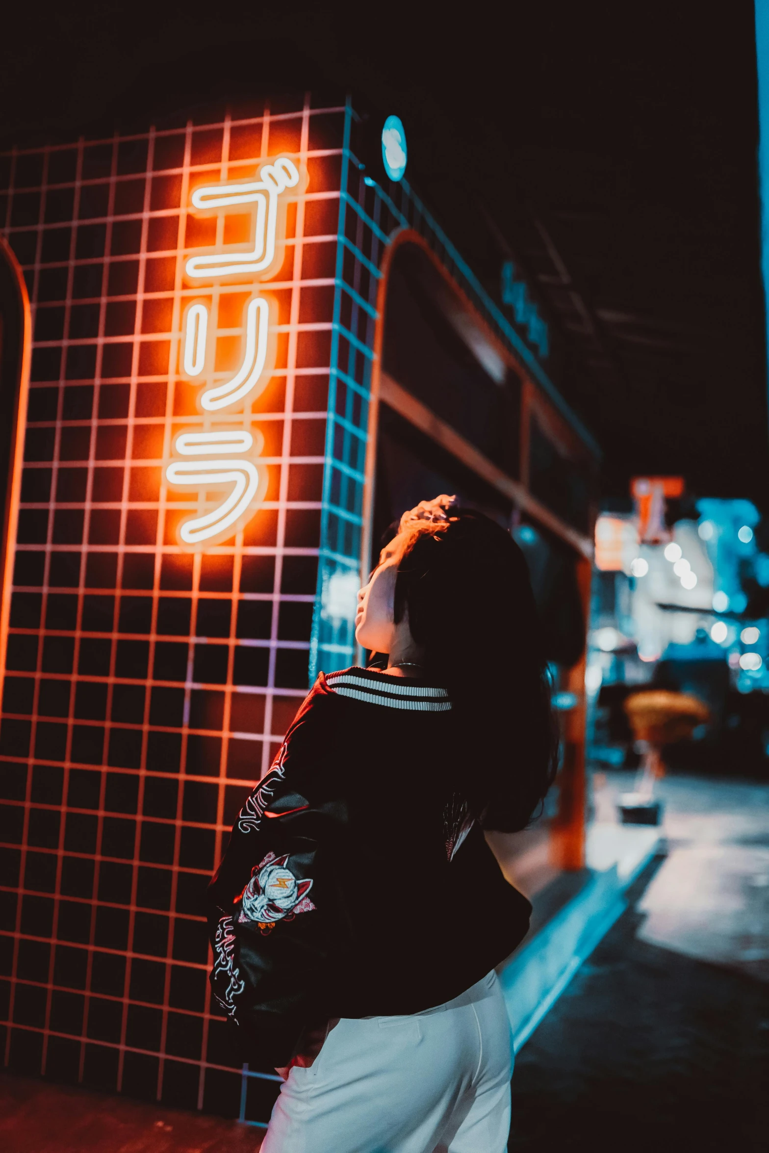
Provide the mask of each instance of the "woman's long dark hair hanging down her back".
POLYGON ((459 721, 467 801, 487 829, 522 829, 553 782, 558 736, 523 553, 469 508, 401 529, 394 619, 459 721), (480 770, 480 771, 478 771, 480 770))

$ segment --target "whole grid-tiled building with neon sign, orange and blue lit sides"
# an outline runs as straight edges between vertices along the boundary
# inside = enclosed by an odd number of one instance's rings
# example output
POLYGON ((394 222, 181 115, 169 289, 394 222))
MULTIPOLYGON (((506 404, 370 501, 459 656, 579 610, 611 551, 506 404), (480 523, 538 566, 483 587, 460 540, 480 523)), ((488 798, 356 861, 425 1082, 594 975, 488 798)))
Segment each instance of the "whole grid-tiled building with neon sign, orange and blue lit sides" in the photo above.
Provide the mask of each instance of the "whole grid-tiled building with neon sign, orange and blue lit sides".
POLYGON ((383 533, 439 491, 530 562, 564 702, 550 835, 581 865, 596 449, 360 123, 308 96, 0 158, 14 1069, 266 1121, 203 891, 308 683, 359 660, 383 533))

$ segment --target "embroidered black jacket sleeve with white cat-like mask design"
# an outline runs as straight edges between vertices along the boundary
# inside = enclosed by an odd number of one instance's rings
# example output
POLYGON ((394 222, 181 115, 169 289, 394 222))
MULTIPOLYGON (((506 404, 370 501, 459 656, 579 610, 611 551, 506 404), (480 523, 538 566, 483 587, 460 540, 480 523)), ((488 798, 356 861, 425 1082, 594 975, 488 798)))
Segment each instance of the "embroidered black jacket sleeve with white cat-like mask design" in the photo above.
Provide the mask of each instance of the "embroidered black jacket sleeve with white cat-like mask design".
MULTIPOLYGON (((243 1060, 291 1060, 314 1012, 325 957, 314 902, 323 839, 323 696, 307 698, 270 770, 247 798, 208 890, 213 996, 239 1026, 243 1060), (309 794, 309 796, 308 796, 309 794)), ((332 806, 333 807, 333 806, 332 806)), ((317 899, 317 897, 316 897, 317 899)))

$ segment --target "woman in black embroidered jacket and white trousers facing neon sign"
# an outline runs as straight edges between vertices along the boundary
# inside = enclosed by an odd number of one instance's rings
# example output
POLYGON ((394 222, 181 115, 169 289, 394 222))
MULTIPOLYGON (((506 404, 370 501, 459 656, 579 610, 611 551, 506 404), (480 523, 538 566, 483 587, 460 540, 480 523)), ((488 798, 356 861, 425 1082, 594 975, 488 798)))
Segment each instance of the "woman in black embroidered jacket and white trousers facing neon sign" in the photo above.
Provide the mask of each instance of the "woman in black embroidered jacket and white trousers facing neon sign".
POLYGON ((386 668, 319 675, 211 884, 214 994, 285 1079, 263 1153, 502 1153, 495 966, 530 906, 483 830, 527 823, 556 752, 523 556, 422 502, 355 635, 386 668))

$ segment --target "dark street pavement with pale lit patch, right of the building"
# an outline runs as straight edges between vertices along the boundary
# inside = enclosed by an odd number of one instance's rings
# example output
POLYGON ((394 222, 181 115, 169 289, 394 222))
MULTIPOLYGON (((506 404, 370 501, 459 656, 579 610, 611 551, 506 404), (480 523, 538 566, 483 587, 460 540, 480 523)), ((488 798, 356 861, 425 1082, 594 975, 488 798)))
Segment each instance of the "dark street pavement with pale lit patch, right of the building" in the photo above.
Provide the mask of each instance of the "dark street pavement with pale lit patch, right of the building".
MULTIPOLYGON (((600 817, 628 785, 609 775, 600 817)), ((518 1056, 515 1153, 766 1148, 769 787, 659 792, 668 856, 518 1056)))

